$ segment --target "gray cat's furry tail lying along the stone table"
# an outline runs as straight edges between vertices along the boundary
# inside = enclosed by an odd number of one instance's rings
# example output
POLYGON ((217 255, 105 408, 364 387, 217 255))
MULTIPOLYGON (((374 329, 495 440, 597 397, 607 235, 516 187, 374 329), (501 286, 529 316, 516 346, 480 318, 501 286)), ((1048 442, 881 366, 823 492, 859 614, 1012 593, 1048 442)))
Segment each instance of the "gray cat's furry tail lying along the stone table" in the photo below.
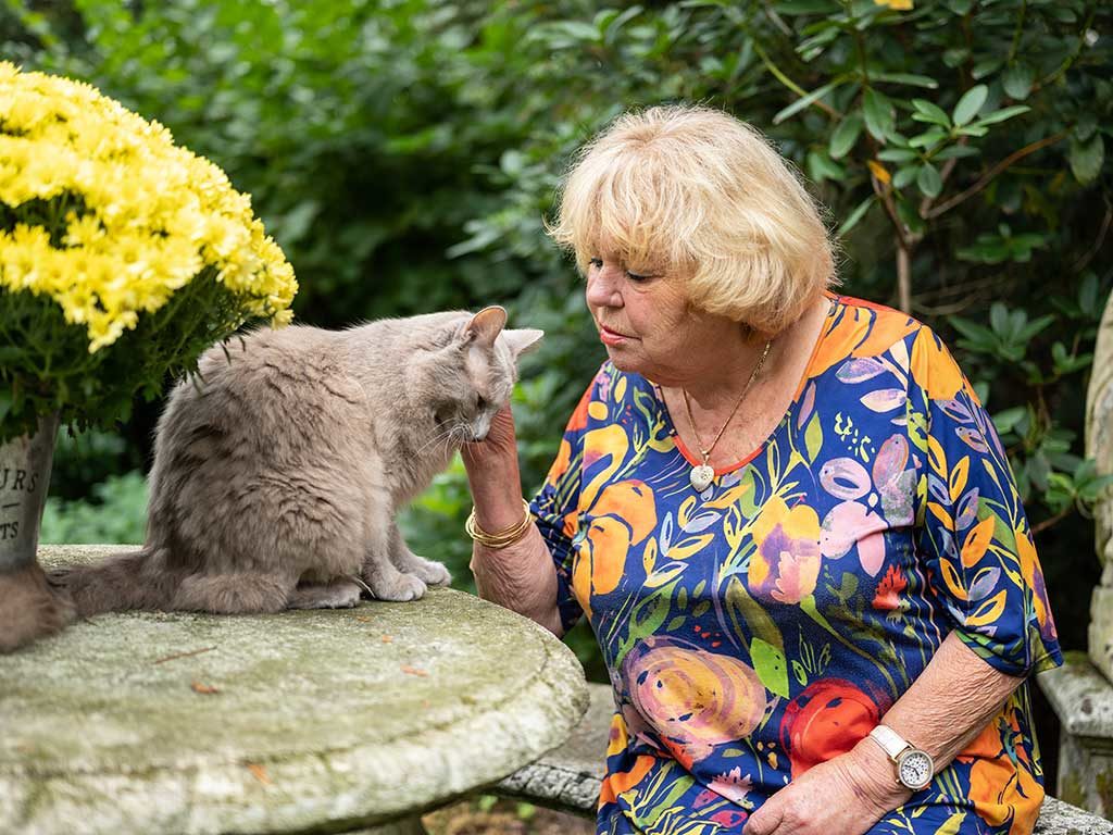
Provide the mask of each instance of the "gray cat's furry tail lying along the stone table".
POLYGON ((126 609, 165 609, 178 579, 162 564, 159 549, 141 548, 104 562, 66 566, 49 573, 79 617, 126 609))

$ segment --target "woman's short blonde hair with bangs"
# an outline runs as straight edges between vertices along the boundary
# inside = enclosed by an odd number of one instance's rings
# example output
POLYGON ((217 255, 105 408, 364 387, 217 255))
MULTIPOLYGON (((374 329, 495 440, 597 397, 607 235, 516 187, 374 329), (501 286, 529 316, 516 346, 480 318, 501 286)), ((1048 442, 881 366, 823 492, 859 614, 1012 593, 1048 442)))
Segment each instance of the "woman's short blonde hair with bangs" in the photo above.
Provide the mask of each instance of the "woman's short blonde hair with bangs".
POLYGON ((549 234, 581 271, 600 242, 687 276, 689 303, 766 333, 837 283, 819 207, 755 128, 701 106, 628 112, 584 146, 549 234))

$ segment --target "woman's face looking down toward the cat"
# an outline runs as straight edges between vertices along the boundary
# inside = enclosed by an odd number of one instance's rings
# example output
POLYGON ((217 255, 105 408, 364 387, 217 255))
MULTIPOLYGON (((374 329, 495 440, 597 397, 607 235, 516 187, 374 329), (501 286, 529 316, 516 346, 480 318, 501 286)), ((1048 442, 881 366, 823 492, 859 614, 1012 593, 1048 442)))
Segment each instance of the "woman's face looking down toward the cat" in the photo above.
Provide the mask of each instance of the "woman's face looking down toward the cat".
POLYGON ((683 385, 733 347, 739 326, 692 310, 683 275, 602 252, 588 265, 588 307, 611 362, 662 385, 683 385))

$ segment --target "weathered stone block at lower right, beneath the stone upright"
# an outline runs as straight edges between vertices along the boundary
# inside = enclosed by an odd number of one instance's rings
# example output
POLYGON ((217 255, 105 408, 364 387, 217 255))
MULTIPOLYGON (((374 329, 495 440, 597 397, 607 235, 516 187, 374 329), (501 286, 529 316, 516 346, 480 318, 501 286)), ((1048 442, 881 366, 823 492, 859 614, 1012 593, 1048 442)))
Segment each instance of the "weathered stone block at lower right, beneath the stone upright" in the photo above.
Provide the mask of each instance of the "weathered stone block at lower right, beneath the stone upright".
POLYGON ((1113 684, 1082 652, 1036 680, 1063 726, 1055 795, 1113 816, 1113 684))

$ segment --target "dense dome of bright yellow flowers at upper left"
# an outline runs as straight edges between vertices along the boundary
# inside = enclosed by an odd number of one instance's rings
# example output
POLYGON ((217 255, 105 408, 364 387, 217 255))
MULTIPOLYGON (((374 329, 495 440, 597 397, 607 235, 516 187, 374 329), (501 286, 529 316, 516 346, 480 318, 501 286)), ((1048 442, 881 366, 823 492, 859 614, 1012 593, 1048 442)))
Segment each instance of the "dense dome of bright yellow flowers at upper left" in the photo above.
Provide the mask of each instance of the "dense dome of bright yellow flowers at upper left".
POLYGON ((92 353, 203 272, 242 321, 292 318, 294 271, 224 171, 89 85, 0 61, 0 288, 57 301, 92 353))

